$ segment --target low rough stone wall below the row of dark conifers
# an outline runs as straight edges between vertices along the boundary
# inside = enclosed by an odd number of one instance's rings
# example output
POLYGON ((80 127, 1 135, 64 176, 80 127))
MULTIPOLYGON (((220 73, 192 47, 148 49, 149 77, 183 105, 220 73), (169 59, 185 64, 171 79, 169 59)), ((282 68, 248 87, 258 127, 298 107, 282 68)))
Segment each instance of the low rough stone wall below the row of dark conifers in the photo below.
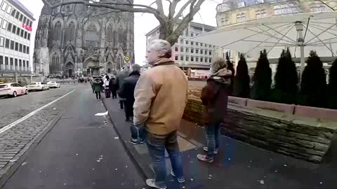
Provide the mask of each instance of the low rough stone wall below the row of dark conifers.
MULTIPOLYGON (((196 93, 190 90, 190 94, 196 93)), ((199 97, 190 95, 183 118, 203 124, 203 105, 199 97)), ((286 154, 311 162, 321 162, 336 134, 337 123, 315 118, 247 109, 228 105, 228 113, 221 127, 222 134, 269 151, 286 154)))

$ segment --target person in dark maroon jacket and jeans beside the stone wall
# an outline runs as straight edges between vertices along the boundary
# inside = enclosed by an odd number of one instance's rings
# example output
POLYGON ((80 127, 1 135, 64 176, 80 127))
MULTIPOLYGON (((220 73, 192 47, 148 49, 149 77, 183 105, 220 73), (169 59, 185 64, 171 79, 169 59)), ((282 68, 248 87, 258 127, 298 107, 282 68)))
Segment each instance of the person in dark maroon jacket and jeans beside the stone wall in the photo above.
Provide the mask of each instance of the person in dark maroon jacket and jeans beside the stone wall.
POLYGON ((207 155, 197 155, 203 162, 213 162, 214 154, 218 153, 220 123, 227 113, 228 95, 232 71, 227 69, 227 63, 223 58, 216 58, 211 66, 211 76, 206 86, 201 90, 201 101, 204 104, 204 122, 207 138, 207 146, 204 151, 207 155))

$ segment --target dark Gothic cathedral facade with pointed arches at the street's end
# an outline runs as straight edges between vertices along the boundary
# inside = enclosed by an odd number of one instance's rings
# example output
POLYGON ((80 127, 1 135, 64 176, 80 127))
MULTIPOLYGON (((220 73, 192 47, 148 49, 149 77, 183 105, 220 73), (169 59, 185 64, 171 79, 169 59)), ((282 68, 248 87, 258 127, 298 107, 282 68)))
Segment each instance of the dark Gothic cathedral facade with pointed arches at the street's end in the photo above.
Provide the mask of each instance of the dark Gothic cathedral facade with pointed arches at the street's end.
POLYGON ((114 73, 134 63, 133 31, 133 13, 80 3, 53 10, 44 6, 35 36, 34 71, 69 77, 114 73))

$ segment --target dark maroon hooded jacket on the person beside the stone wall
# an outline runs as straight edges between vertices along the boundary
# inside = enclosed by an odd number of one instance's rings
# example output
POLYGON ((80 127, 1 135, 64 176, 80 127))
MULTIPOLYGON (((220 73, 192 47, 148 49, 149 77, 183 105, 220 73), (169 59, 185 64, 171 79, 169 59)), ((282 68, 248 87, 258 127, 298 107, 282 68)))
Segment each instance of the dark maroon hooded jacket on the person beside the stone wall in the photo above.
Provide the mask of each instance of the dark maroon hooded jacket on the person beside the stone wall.
MULTIPOLYGON (((230 78, 230 77, 229 77, 230 78)), ((204 104, 204 123, 220 123, 227 114, 228 95, 230 83, 225 78, 207 80, 201 91, 201 101, 204 104)))

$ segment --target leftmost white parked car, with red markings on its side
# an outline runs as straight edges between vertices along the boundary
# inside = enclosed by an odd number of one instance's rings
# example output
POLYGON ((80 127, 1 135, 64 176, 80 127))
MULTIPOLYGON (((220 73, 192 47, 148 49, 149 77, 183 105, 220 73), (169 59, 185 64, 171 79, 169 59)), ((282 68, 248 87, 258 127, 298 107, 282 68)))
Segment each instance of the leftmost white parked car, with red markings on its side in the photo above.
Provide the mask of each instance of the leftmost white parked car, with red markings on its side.
POLYGON ((28 94, 28 89, 19 83, 0 84, 0 96, 17 97, 22 94, 28 94))

